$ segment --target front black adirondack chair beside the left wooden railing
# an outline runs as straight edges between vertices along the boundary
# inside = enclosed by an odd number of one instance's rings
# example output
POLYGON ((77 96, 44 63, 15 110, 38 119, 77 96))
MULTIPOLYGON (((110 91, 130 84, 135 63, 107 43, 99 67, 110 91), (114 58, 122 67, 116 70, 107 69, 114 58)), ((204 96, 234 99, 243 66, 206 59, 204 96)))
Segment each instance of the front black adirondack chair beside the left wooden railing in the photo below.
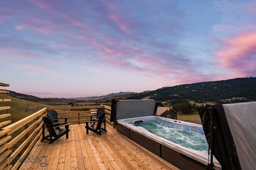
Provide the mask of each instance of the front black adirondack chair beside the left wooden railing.
POLYGON ((54 141, 56 141, 57 139, 59 139, 60 137, 62 137, 65 134, 66 134, 66 138, 68 138, 68 132, 69 132, 68 126, 70 124, 54 126, 54 124, 48 117, 43 116, 42 120, 44 122, 43 122, 43 137, 42 137, 41 142, 44 140, 48 140, 48 141, 50 141, 50 143, 53 143, 54 141), (49 135, 47 135, 47 136, 45 136, 45 134, 44 134, 45 126, 49 132, 49 135), (60 128, 60 127, 65 127, 65 128, 60 128))

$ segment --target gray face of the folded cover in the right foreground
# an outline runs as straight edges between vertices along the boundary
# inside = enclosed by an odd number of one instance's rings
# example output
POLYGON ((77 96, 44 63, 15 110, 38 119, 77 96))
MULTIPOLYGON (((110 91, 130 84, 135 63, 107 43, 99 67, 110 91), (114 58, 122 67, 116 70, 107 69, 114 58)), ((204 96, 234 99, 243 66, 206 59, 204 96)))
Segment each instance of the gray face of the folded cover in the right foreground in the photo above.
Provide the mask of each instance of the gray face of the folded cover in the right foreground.
POLYGON ((242 170, 256 170, 256 102, 222 106, 242 170))

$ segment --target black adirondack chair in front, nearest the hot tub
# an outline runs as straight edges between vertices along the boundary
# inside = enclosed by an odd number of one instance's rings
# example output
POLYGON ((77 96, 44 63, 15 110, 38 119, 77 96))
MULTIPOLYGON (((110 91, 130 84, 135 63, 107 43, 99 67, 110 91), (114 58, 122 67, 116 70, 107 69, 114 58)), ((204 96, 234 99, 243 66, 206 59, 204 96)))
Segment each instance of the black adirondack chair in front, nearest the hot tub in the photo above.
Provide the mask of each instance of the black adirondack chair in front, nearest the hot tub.
POLYGON ((89 133, 89 130, 93 131, 93 132, 95 132, 99 135, 101 135, 101 132, 103 132, 103 131, 106 132, 107 130, 106 130, 106 118, 105 118, 105 116, 106 116, 106 113, 104 112, 98 117, 98 120, 96 120, 96 121, 85 121, 85 123, 86 123, 86 126, 85 126, 86 134, 89 133), (89 125, 89 123, 92 123, 92 124, 89 125), (104 123, 104 128, 101 127, 102 123, 104 123))

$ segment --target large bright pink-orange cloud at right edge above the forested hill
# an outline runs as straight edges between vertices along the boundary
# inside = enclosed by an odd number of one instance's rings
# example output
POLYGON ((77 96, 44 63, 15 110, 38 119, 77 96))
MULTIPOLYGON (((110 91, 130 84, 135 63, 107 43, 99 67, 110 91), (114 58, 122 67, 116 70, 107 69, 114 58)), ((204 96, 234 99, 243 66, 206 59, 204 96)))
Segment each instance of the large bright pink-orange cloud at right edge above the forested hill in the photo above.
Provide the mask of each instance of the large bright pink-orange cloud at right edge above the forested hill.
POLYGON ((240 33, 230 39, 224 39, 221 49, 215 53, 217 64, 240 72, 239 76, 255 76, 256 70, 256 31, 240 33))

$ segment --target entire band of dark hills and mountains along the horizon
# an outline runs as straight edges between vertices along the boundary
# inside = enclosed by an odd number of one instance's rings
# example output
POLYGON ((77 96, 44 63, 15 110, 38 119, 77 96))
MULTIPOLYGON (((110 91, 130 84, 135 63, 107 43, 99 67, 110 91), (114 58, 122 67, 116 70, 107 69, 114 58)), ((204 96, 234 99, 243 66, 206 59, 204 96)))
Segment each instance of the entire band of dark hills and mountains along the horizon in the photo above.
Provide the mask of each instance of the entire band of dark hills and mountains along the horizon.
POLYGON ((32 102, 56 102, 90 101, 96 103, 111 103, 112 99, 154 99, 167 102, 170 105, 189 100, 197 103, 214 102, 248 102, 256 101, 256 77, 234 78, 229 80, 199 82, 192 84, 181 84, 171 87, 162 87, 157 90, 144 92, 119 92, 104 96, 90 96, 84 98, 38 98, 36 96, 20 94, 10 91, 10 96, 29 100, 32 102), (238 101, 236 101, 238 100, 238 101))

